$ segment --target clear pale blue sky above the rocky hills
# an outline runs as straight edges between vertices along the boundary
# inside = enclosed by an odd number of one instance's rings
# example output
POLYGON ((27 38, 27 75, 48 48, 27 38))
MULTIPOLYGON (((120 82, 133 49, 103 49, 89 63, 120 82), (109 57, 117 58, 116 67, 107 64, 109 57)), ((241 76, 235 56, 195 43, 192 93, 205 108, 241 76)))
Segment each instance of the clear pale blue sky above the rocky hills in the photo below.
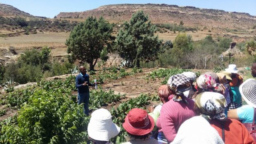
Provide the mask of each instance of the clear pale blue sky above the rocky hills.
POLYGON ((34 16, 50 18, 59 14, 59 12, 81 12, 102 5, 121 3, 165 3, 168 5, 221 9, 228 12, 246 12, 256 16, 256 0, 0 0, 0 3, 12 5, 34 16))

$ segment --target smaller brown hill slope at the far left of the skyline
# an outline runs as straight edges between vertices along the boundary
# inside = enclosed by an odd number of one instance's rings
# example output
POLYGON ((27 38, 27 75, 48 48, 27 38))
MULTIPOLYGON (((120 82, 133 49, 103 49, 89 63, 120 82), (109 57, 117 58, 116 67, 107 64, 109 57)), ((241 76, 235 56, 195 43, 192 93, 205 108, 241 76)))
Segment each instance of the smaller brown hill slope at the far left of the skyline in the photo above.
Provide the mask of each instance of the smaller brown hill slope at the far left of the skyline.
POLYGON ((0 3, 0 17, 31 17, 34 16, 23 12, 16 7, 0 3))

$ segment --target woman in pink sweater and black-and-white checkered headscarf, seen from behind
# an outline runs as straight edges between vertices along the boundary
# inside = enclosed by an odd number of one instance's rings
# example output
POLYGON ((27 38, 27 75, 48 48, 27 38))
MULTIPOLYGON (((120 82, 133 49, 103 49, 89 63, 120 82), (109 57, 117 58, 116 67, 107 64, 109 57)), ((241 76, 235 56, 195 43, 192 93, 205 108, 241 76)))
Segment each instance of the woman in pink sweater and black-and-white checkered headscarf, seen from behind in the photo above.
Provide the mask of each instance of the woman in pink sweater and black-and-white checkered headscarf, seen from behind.
POLYGON ((195 116, 194 101, 183 94, 187 90, 192 90, 190 79, 186 76, 173 75, 168 79, 167 84, 173 92, 173 97, 162 106, 156 125, 164 132, 167 141, 172 142, 180 125, 195 116))

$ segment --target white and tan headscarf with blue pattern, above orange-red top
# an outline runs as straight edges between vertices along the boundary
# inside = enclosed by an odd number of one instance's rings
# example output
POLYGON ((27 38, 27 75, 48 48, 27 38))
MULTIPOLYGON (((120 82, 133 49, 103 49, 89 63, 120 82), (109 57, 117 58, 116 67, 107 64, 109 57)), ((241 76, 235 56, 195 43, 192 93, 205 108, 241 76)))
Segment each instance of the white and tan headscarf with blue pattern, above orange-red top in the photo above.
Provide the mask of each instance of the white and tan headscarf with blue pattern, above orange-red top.
POLYGON ((217 119, 220 121, 225 121, 227 116, 224 113, 227 107, 227 102, 225 97, 217 92, 202 92, 197 95, 195 99, 195 104, 201 112, 201 116, 210 121, 211 119, 217 119))

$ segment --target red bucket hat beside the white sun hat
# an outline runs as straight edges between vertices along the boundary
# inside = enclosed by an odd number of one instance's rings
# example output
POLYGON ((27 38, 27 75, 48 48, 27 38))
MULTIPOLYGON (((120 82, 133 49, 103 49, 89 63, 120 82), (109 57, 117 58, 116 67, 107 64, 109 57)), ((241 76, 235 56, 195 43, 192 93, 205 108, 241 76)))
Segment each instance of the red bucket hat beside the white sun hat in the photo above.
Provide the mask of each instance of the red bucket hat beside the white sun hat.
POLYGON ((132 135, 146 135, 154 128, 154 119, 143 109, 131 109, 126 116, 123 128, 132 135))

